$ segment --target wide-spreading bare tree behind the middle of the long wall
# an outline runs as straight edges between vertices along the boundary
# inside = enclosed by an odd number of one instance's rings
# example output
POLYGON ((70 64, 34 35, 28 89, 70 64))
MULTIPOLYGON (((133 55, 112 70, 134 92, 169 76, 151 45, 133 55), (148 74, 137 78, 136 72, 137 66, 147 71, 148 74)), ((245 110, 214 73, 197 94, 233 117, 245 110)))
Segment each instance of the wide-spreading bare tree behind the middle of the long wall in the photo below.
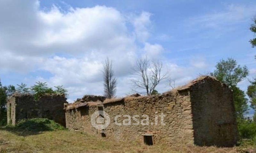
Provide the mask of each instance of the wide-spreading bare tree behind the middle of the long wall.
POLYGON ((138 92, 133 89, 133 91, 141 94, 151 95, 152 91, 155 90, 159 82, 166 78, 167 73, 162 74, 163 63, 152 60, 149 61, 146 58, 139 59, 136 63, 135 68, 133 68, 135 76, 138 79, 132 79, 132 84, 135 88, 144 89, 145 92, 138 92))

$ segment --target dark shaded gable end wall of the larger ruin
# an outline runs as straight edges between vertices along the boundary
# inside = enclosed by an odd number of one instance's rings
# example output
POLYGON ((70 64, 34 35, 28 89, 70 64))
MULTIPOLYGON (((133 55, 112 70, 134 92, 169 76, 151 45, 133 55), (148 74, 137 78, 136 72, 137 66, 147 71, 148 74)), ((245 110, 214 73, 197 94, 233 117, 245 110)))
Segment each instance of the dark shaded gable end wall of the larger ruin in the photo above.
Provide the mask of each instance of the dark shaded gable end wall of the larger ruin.
POLYGON ((231 147, 238 140, 232 91, 207 77, 190 89, 195 144, 231 147))

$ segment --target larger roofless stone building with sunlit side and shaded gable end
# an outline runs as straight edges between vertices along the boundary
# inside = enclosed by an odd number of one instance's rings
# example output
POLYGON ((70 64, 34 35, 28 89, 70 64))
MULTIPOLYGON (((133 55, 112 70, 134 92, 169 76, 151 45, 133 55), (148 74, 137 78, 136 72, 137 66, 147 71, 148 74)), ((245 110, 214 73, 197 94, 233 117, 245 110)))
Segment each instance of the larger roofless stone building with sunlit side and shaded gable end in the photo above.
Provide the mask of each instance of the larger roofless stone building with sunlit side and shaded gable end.
POLYGON ((199 77, 189 84, 155 96, 105 99, 84 96, 65 105, 66 127, 122 141, 146 144, 234 146, 238 140, 232 91, 212 77, 199 77), (91 115, 104 110, 110 124, 103 130, 93 128, 91 115), (157 115, 163 113, 164 124, 157 115), (149 124, 141 125, 148 115, 149 124), (119 115, 118 118, 115 117, 119 115), (119 125, 127 116, 131 125, 119 125), (133 115, 138 115, 133 120, 133 115), (156 122, 158 124, 156 125, 156 122))

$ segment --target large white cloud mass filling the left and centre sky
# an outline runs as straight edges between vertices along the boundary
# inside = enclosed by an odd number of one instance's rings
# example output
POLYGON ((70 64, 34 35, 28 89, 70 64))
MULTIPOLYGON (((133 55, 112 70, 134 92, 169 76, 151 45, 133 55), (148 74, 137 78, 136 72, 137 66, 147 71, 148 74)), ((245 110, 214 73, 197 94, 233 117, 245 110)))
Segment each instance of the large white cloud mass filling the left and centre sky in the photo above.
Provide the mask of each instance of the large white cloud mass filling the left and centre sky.
MULTIPOLYGON (((72 101, 84 94, 103 93, 102 61, 108 56, 118 81, 117 95, 124 96, 131 91, 129 82, 134 77, 131 74, 136 59, 143 55, 160 57, 164 51, 160 44, 148 42, 150 17, 149 12, 142 12, 127 19, 125 14, 106 6, 69 6, 63 11, 52 5, 42 10, 37 0, 2 0, 0 73, 50 73, 47 77, 26 78, 28 82, 46 81, 51 87, 64 85, 72 101), (128 30, 128 24, 133 25, 132 30, 128 30)), ((194 72, 166 59, 164 65, 165 71, 171 69, 178 84, 194 72)), ((160 92, 166 89, 165 82, 159 85, 160 92)))

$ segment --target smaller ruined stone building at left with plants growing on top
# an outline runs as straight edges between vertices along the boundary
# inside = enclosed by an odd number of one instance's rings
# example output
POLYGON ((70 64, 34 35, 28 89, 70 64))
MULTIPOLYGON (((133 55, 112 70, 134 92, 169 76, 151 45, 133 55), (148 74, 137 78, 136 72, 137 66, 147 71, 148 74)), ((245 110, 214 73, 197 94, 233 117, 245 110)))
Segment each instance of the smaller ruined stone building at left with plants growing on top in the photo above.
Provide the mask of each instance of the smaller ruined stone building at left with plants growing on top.
POLYGON ((7 100, 7 122, 14 125, 22 119, 48 118, 66 126, 64 94, 45 94, 38 101, 31 94, 14 93, 7 100))

